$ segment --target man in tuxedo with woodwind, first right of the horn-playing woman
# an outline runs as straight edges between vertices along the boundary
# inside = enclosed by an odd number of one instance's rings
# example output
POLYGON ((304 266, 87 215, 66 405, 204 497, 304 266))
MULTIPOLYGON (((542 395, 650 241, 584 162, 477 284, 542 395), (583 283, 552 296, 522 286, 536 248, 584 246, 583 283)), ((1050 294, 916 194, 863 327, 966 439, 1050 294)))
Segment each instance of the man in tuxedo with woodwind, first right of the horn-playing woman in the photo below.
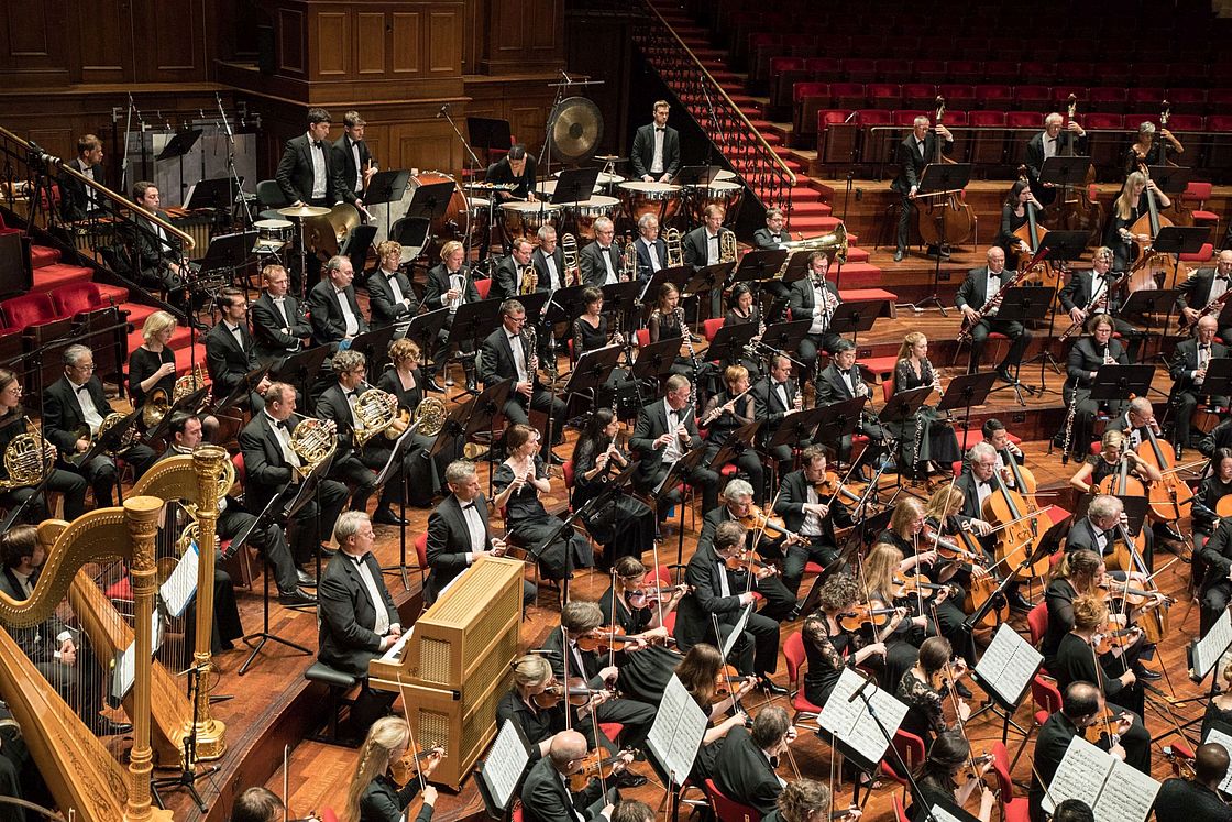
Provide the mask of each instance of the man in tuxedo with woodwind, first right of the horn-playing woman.
POLYGON ((483 341, 479 349, 479 380, 484 386, 503 380, 514 381, 514 389, 505 401, 505 418, 509 423, 530 424, 530 410, 542 412, 552 420, 552 441, 543 437, 540 456, 561 465, 563 460, 552 452, 552 446, 564 440, 565 405, 538 378, 538 357, 522 334, 526 325, 526 308, 516 299, 500 303, 500 328, 483 341))

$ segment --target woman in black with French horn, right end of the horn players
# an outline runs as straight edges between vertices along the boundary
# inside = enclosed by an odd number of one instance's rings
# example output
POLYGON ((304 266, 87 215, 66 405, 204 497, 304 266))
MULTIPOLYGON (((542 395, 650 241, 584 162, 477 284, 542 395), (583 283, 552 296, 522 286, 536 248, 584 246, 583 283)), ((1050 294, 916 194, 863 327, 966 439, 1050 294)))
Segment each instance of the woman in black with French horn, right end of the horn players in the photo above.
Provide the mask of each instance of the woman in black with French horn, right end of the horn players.
MULTIPOLYGON (((377 380, 377 388, 393 394, 398 399, 398 412, 414 415, 415 409, 424 401, 425 382, 424 375, 419 370, 419 346, 411 340, 394 340, 389 345, 391 366, 384 370, 377 380)), ((391 429, 399 436, 407 428, 404 424, 395 424, 391 429)), ((436 458, 429 458, 435 436, 426 436, 418 430, 410 435, 410 444, 403 457, 403 476, 405 477, 407 504, 415 508, 431 508, 432 498, 441 489, 441 477, 445 476, 445 467, 455 457, 461 456, 456 449, 442 449, 436 458)), ((394 440, 379 435, 368 440, 368 447, 375 454, 381 454, 383 460, 389 458, 394 440)))

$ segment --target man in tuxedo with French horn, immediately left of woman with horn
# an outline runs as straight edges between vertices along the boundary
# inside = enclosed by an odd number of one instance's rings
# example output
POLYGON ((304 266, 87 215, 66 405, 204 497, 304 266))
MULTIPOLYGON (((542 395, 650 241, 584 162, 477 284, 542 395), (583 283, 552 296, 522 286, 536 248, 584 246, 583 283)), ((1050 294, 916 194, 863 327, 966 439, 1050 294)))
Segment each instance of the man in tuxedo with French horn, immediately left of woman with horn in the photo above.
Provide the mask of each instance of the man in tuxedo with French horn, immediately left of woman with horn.
MULTIPOLYGON (((372 447, 383 435, 373 436, 362 447, 355 441, 356 430, 362 428, 356 412, 359 397, 371 389, 363 380, 367 359, 359 351, 339 351, 334 355, 331 367, 336 378, 317 399, 317 417, 334 423, 338 429, 338 449, 328 476, 354 489, 351 510, 362 511, 368 507, 368 498, 376 493, 377 472, 384 467, 389 452, 388 449, 382 452, 372 447)), ((402 466, 397 466, 389 482, 381 489, 381 500, 372 521, 377 525, 405 525, 405 520, 393 513, 393 504, 400 497, 402 466)))

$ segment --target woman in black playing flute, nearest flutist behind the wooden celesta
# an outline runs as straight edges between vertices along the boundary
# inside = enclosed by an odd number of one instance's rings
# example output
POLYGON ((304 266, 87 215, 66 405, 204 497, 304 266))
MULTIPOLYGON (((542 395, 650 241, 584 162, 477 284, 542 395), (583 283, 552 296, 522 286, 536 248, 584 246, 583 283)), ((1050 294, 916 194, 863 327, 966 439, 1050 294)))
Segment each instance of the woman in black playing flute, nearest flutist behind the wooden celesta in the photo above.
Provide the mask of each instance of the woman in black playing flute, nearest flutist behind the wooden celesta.
POLYGON ((519 547, 538 551, 540 571, 547 579, 564 579, 574 568, 595 564, 590 543, 572 527, 547 513, 540 494, 552 490, 547 467, 540 458, 540 433, 530 425, 510 425, 505 429, 505 447, 509 458, 496 467, 492 477, 496 488, 493 500, 505 509, 509 530, 505 536, 519 547), (547 540, 547 547, 542 547, 547 540))

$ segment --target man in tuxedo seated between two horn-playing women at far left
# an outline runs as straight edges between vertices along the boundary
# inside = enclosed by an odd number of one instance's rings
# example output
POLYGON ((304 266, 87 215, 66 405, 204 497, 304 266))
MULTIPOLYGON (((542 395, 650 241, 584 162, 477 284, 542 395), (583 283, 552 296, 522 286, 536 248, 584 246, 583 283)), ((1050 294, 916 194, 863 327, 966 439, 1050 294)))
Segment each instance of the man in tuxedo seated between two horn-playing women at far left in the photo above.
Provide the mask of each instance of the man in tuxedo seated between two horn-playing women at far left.
MULTIPOLYGON (((46 394, 43 436, 59 450, 60 467, 85 477, 94 488, 97 508, 115 505, 113 492, 120 474, 111 457, 99 455, 84 466, 67 462, 70 455, 90 450, 91 439, 83 437, 81 430, 89 429, 90 437, 97 436, 99 426, 111 413, 107 397, 102 393, 102 381, 94 373, 94 351, 85 345, 64 349, 64 376, 48 386, 46 394)), ((132 463, 140 477, 154 465, 158 455, 138 442, 128 446, 121 457, 132 463)))

